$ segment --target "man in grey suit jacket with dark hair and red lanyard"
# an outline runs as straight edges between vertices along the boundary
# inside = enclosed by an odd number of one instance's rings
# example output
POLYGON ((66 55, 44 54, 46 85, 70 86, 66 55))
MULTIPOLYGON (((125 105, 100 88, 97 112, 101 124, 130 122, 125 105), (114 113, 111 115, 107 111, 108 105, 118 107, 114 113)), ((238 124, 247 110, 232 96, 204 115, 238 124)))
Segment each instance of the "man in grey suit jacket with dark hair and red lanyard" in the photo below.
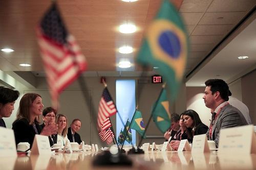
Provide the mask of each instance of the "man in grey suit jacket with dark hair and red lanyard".
POLYGON ((213 111, 206 135, 208 140, 216 142, 218 148, 221 129, 247 125, 247 122, 243 114, 227 102, 229 100, 229 88, 225 81, 210 79, 205 82, 205 85, 204 103, 213 111))

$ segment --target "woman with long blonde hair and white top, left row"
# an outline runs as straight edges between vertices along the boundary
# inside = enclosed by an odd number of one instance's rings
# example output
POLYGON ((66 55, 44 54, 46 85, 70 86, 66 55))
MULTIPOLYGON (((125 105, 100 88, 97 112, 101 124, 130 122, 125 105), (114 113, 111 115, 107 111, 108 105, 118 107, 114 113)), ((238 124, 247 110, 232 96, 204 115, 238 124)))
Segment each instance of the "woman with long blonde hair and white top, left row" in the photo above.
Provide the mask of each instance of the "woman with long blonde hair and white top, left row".
POLYGON ((61 145, 65 145, 66 141, 69 141, 68 139, 68 119, 63 114, 58 114, 56 119, 56 124, 58 126, 58 135, 57 135, 57 143, 61 145))

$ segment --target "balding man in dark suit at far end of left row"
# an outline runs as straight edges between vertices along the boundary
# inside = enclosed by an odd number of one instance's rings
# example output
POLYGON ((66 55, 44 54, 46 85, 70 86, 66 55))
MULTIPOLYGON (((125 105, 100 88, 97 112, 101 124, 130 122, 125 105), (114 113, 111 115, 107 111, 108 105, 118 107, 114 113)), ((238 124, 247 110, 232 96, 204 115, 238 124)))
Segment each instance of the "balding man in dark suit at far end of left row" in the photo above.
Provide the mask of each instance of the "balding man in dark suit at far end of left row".
POLYGON ((77 133, 81 128, 81 120, 76 118, 72 121, 68 129, 68 139, 70 142, 77 142, 80 144, 82 142, 80 135, 77 133))

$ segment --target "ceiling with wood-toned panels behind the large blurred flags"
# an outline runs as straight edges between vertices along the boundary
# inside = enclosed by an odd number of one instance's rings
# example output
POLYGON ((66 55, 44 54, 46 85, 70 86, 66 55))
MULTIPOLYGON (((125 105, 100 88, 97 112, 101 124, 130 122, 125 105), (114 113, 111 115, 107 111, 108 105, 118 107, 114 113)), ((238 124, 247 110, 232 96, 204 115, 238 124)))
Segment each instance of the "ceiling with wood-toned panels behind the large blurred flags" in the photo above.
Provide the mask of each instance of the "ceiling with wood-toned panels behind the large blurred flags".
MULTIPOLYGON (((144 30, 155 16, 160 2, 160 0, 139 0, 135 3, 124 3, 120 0, 111 0, 111 3, 109 0, 58 0, 63 19, 69 31, 77 38, 82 53, 87 58, 89 68, 83 75, 140 77, 141 68, 136 63, 132 69, 122 70, 116 67, 116 62, 125 57, 120 56, 116 48, 121 43, 133 44, 135 53, 126 57, 134 61, 144 30), (133 35, 120 34, 116 28, 124 20, 134 22, 139 27, 138 32, 133 35)), ((236 75, 241 77, 252 69, 253 64, 255 66, 256 41, 253 31, 256 30, 255 14, 246 19, 238 31, 232 33, 212 52, 250 11, 255 13, 255 0, 183 0, 183 2, 173 0, 173 2, 184 18, 190 39, 190 52, 185 71, 187 86, 200 86, 206 79, 216 78, 216 75, 220 75, 218 78, 232 81, 234 77, 238 77, 236 75), (249 59, 238 62, 236 57, 245 54, 250 55, 249 59), (213 69, 217 65, 218 69, 213 69)), ((35 0, 26 0, 22 3, 15 0, 1 2, 0 48, 9 46, 14 48, 15 52, 12 54, 0 52, 0 70, 13 71, 12 75, 24 80, 29 74, 32 75, 29 76, 30 79, 45 76, 34 28, 50 3, 51 1, 35 0), (32 66, 21 67, 18 65, 20 63, 30 63, 32 66)), ((155 74, 155 71, 152 68, 148 69, 147 76, 155 74)))

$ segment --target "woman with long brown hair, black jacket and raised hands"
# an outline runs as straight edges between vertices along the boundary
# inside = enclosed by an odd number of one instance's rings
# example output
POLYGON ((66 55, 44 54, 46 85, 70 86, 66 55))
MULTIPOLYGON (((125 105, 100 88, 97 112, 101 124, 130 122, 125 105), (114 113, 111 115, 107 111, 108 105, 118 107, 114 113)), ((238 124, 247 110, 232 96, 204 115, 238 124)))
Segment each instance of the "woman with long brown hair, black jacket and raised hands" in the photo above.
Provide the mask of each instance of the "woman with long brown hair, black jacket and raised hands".
POLYGON ((36 134, 50 136, 57 133, 55 124, 47 125, 42 129, 38 124, 38 116, 42 114, 42 99, 39 94, 26 93, 20 99, 16 120, 12 124, 16 144, 28 142, 32 148, 36 134))

